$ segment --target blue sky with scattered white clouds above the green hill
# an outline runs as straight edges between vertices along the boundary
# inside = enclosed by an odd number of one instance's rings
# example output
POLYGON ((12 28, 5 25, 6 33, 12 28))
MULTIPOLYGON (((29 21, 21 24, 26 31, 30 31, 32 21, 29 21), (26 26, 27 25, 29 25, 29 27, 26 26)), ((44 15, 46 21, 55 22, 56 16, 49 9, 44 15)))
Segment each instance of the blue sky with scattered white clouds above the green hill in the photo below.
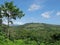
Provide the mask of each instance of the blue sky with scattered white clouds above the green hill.
MULTIPOLYGON (((25 23, 47 23, 60 25, 60 0, 0 0, 0 4, 5 1, 13 1, 25 16, 21 19, 13 20, 14 24, 25 23)), ((7 21, 3 23, 7 24, 7 21)))

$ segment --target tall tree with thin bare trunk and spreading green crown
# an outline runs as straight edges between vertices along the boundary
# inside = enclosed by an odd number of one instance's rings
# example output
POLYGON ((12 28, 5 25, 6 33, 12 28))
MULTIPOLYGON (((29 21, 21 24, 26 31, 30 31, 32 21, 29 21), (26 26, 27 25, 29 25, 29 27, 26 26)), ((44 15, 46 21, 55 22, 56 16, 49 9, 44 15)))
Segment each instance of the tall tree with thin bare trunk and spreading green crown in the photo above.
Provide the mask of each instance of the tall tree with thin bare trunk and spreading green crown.
POLYGON ((1 5, 2 17, 5 17, 8 21, 8 38, 9 38, 9 24, 13 23, 12 19, 16 20, 24 16, 24 13, 14 6, 13 2, 5 2, 4 5, 1 5))

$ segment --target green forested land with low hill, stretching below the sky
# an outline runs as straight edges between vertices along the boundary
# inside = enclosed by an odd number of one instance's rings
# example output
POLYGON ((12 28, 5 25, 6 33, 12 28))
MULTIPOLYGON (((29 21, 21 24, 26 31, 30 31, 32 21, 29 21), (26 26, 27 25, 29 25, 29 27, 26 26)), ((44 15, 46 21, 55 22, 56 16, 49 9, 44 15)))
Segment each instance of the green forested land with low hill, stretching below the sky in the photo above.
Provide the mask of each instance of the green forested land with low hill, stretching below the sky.
POLYGON ((60 26, 27 23, 20 26, 0 26, 0 45, 60 45, 60 26))

